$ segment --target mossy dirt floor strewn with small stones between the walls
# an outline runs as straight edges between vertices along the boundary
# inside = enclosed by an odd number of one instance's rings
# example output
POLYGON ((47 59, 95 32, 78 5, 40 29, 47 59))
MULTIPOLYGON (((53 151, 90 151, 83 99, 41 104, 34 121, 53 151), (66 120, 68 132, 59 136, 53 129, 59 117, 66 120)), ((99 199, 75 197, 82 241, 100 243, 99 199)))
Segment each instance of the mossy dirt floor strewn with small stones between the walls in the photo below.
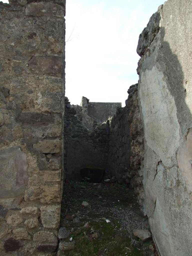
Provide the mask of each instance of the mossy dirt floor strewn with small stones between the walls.
POLYGON ((134 229, 149 228, 148 219, 125 185, 66 182, 61 207, 61 227, 68 232, 63 241, 75 242, 63 256, 157 255, 152 239, 142 242, 133 235, 134 229))

